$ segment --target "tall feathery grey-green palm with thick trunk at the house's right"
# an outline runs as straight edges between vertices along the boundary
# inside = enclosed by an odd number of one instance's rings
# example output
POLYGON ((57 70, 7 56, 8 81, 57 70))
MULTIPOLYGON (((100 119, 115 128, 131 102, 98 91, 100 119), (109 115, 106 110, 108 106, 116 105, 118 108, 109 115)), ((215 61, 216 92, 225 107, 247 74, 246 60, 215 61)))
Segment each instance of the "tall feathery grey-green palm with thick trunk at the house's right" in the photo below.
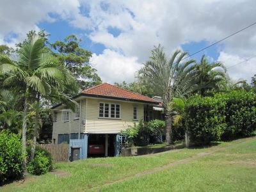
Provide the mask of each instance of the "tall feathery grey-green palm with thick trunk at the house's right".
POLYGON ((150 60, 138 71, 138 78, 148 84, 163 98, 166 114, 166 143, 172 144, 172 113, 168 103, 174 97, 183 97, 197 88, 195 78, 195 60, 184 60, 187 52, 175 51, 168 60, 161 45, 152 50, 150 60))

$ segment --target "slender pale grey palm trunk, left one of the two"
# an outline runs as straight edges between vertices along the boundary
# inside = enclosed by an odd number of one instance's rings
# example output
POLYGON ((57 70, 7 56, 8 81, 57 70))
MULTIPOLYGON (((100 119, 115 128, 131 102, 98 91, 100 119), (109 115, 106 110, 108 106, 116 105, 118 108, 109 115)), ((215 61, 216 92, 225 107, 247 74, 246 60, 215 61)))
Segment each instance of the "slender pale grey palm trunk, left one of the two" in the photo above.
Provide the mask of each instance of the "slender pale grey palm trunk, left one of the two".
POLYGON ((27 134, 27 113, 28 113, 28 88, 26 88, 25 100, 24 100, 24 115, 22 123, 22 156, 23 166, 26 168, 26 134, 27 134))

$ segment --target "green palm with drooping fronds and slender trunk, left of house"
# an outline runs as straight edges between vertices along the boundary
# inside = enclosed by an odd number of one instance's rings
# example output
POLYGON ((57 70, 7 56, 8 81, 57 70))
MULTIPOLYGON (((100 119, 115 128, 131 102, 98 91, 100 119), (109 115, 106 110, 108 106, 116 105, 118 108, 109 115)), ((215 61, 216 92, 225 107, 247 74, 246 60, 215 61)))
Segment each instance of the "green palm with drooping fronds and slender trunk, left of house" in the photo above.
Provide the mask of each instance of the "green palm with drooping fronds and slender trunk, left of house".
MULTIPOLYGON (((26 166, 26 129, 28 103, 36 100, 35 132, 38 129, 38 109, 40 96, 51 94, 52 88, 72 82, 68 70, 58 63, 51 54, 44 52, 45 39, 33 35, 25 42, 17 54, 0 55, 0 74, 4 74, 4 84, 19 87, 24 93, 24 116, 22 124, 22 154, 26 166)), ((35 151, 35 150, 34 150, 35 151)))

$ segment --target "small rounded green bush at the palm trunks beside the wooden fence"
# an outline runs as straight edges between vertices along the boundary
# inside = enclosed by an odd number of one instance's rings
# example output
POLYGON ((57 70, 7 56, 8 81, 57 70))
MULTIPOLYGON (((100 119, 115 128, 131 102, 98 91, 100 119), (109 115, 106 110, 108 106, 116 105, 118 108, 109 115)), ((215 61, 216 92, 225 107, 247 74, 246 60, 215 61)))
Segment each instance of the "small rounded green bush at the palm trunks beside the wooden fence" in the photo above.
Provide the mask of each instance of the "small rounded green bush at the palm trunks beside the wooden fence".
MULTIPOLYGON (((31 147, 29 148, 28 150, 30 151, 31 147)), ((52 155, 44 148, 36 146, 35 158, 29 161, 27 170, 33 175, 41 175, 51 171, 52 155)))

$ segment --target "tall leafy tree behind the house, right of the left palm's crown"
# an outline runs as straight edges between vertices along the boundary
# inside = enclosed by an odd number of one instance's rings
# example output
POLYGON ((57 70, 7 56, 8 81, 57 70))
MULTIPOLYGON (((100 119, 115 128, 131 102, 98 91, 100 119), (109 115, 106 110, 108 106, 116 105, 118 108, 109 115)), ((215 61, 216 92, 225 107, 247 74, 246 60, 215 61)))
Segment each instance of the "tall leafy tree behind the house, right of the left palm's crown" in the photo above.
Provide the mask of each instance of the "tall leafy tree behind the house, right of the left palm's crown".
POLYGON ((68 35, 63 41, 50 43, 53 54, 61 61, 77 79, 81 89, 102 83, 97 70, 89 64, 92 52, 83 49, 81 39, 76 35, 68 35))

